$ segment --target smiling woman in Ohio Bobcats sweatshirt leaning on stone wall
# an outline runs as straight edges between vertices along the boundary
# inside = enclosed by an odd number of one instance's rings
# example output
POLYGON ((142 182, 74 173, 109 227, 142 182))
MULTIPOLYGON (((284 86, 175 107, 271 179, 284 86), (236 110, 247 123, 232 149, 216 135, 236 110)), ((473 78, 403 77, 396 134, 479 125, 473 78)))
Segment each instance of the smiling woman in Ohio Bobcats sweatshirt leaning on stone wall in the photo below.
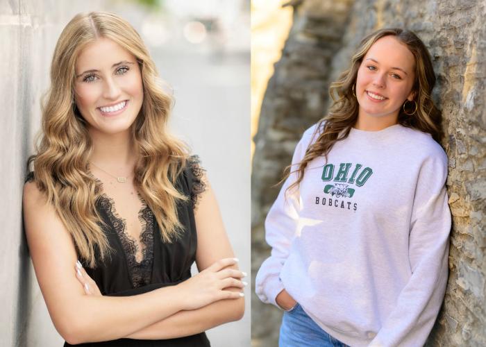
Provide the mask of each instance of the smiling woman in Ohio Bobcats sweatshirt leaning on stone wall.
POLYGON ((444 299, 451 212, 435 75, 412 32, 362 40, 296 146, 265 222, 260 300, 280 346, 422 346, 444 299))

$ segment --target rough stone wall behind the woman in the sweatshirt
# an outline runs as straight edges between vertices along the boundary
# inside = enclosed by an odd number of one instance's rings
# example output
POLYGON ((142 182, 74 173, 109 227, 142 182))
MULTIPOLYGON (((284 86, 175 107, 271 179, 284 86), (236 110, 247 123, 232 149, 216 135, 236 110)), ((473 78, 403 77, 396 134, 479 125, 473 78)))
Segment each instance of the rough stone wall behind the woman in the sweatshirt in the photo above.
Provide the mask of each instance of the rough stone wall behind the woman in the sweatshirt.
MULTIPOLYGON (((449 284, 429 346, 486 345, 486 6, 470 1, 291 1, 294 25, 262 103, 252 176, 253 276, 269 255, 263 221, 303 130, 328 108, 328 85, 355 46, 383 27, 417 33, 433 57, 453 214, 449 284)), ((280 312, 253 295, 253 346, 276 346, 280 312)))

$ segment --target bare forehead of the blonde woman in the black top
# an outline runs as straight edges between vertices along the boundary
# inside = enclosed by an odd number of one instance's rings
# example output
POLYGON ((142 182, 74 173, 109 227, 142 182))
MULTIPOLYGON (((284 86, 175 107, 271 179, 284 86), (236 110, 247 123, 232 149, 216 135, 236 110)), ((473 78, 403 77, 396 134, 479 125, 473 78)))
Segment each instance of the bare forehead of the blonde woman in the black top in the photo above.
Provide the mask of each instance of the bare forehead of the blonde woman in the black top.
POLYGON ((122 60, 135 60, 135 57, 115 41, 101 37, 81 50, 76 59, 76 74, 90 69, 111 69, 122 60))

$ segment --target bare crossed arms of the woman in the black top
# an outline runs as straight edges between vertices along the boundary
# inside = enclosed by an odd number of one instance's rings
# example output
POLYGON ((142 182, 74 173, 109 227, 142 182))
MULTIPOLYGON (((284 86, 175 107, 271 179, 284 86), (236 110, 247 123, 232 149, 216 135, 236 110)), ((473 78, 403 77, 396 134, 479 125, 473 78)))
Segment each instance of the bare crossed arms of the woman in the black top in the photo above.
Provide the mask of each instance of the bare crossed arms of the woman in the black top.
POLYGON ((233 257, 233 251, 209 185, 196 210, 196 264, 201 272, 180 285, 136 296, 87 295, 73 276, 72 237, 34 183, 24 186, 24 224, 49 314, 70 344, 183 337, 243 315, 241 271, 231 260, 213 264, 233 257))

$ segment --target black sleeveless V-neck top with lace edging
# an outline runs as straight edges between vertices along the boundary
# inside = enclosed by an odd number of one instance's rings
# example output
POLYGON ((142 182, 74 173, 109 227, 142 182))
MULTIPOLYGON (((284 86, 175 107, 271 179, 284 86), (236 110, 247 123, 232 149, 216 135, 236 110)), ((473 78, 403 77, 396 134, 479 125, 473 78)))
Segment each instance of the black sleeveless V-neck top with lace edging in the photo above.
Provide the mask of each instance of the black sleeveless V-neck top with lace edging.
MULTIPOLYGON (((190 199, 178 204, 178 218, 184 227, 181 237, 170 244, 162 242, 158 223, 142 199, 142 208, 138 214, 142 223, 140 246, 142 260, 137 262, 137 242, 126 232, 126 221, 115 211, 112 198, 101 194, 97 201, 97 210, 108 228, 108 242, 113 252, 111 257, 92 269, 83 264, 87 274, 97 282, 101 294, 107 296, 131 296, 146 293, 154 289, 177 285, 191 277, 190 268, 196 257, 197 235, 194 221, 194 207, 197 198, 206 186, 201 180, 203 169, 199 158, 192 156, 187 167, 176 181, 176 187, 190 199)), ((30 173, 27 180, 33 179, 30 173)), ((67 342, 64 346, 72 346, 67 342)), ((200 334, 165 340, 117 339, 76 346, 210 346, 204 332, 200 334)))

